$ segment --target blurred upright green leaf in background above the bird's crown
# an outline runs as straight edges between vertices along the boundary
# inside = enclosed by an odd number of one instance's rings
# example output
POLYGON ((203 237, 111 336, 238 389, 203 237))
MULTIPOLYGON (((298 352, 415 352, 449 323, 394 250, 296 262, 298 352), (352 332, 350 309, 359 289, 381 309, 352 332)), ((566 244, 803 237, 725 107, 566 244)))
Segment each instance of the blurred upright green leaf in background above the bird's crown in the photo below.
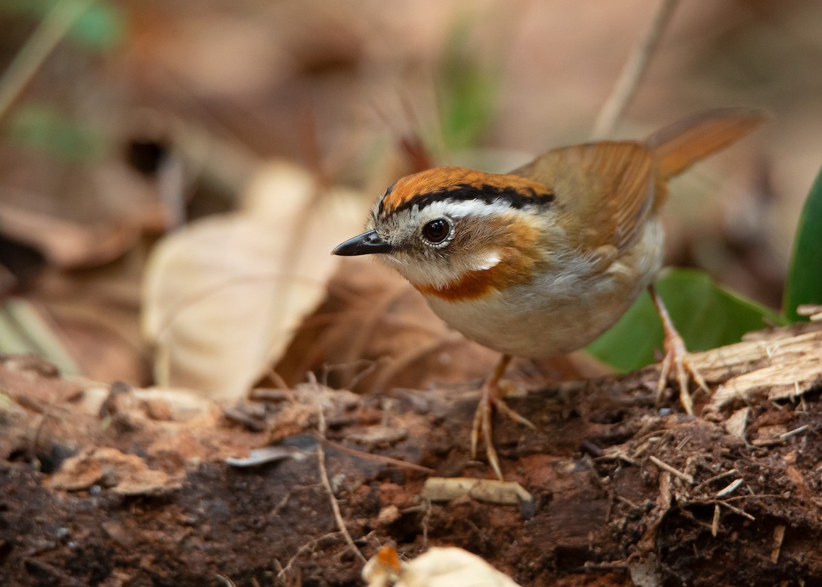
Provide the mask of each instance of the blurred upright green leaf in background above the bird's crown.
POLYGON ((496 110, 499 76, 471 50, 468 24, 452 32, 437 72, 441 130, 450 150, 476 146, 496 110))

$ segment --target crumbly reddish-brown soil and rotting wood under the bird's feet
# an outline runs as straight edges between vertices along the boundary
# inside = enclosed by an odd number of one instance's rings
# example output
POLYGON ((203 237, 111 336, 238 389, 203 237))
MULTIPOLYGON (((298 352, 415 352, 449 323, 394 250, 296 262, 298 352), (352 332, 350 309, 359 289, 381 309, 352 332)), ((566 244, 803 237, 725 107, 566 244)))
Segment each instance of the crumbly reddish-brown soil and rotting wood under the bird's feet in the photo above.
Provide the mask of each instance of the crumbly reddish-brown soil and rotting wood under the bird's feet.
MULTIPOLYGON (((816 360, 822 337, 806 344, 797 365, 816 360)), ((766 355, 710 382, 766 367, 766 355)), ((389 541, 405 557, 447 544, 520 585, 822 585, 813 383, 785 399, 768 399, 761 385, 723 406, 702 397, 698 418, 672 398, 654 406, 653 367, 511 399, 538 430, 496 416, 496 446, 506 478, 533 502, 500 506, 423 500, 429 474, 366 454, 440 477, 490 478, 466 450, 475 396, 313 385, 295 390, 296 403, 183 418, 122 388, 96 414, 87 393, 17 359, 0 377, 2 585, 227 585, 220 575, 238 587, 361 585, 362 562, 339 533, 317 466, 319 406, 327 439, 362 451, 324 445, 335 499, 366 558, 389 541), (305 458, 224 462, 270 444, 305 458)))

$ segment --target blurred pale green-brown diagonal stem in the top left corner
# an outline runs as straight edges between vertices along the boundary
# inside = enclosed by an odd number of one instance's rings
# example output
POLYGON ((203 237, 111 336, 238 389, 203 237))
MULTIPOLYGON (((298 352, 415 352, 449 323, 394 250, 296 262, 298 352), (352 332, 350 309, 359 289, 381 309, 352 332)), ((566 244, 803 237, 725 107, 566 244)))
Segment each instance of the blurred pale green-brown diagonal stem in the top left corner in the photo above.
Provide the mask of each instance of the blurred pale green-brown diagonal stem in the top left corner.
POLYGON ((0 119, 35 76, 49 53, 96 0, 62 0, 40 21, 0 79, 0 119))

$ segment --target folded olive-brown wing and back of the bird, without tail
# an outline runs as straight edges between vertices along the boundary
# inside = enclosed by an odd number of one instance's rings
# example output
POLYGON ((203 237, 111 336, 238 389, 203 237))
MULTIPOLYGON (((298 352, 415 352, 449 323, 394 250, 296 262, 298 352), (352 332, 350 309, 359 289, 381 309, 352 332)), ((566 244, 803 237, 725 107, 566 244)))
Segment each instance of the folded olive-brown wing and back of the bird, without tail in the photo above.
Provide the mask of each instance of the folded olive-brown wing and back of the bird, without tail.
POLYGON ((550 150, 511 174, 552 190, 571 246, 583 250, 611 246, 622 251, 633 243, 658 188, 653 155, 633 141, 550 150))

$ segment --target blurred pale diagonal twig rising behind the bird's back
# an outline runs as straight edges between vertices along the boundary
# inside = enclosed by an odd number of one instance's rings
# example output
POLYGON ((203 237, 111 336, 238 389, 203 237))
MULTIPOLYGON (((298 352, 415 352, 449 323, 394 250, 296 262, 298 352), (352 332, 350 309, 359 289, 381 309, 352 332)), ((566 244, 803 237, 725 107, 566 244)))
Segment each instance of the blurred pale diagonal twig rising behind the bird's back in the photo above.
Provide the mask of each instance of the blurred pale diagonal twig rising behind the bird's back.
POLYGON ((671 20, 674 8, 677 7, 677 0, 661 0, 657 13, 653 16, 653 21, 645 31, 645 35, 636 45, 630 54, 628 61, 617 78, 617 84, 611 91, 611 95, 603 104, 599 111, 597 122, 593 125, 594 140, 606 138, 611 134, 614 125, 620 114, 625 110, 628 102, 636 91, 640 79, 648 66, 649 58, 657 49, 659 39, 663 31, 671 20))

